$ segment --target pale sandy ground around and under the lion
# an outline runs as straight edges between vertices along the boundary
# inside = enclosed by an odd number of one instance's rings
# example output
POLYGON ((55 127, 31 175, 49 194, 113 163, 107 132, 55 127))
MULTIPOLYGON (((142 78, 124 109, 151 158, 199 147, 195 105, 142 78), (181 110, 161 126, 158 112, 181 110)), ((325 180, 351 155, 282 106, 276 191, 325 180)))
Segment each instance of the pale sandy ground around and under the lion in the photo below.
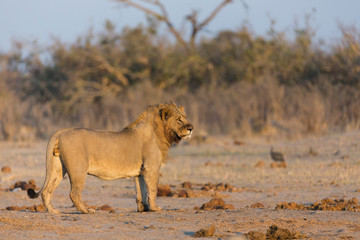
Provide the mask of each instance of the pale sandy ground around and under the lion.
POLYGON ((208 138, 172 148, 160 183, 170 184, 175 193, 185 181, 194 189, 185 189, 192 193, 188 198, 159 197, 161 212, 136 212, 131 179, 102 181, 89 176, 83 199, 88 205, 108 204, 115 210, 90 215, 72 207, 67 178, 53 199, 61 214, 6 210, 41 203, 20 188, 7 189, 20 180, 34 179, 42 185, 46 142, 1 142, 0 167, 10 166, 11 173, 0 173, 0 239, 192 239, 195 232, 211 225, 215 233, 208 239, 245 239, 246 233, 266 233, 273 224, 310 239, 360 239, 356 209, 275 209, 282 202, 310 206, 324 198, 360 199, 360 131, 296 141, 237 140, 208 138), (284 153, 286 168, 270 167, 270 146, 284 153), (209 182, 228 183, 236 189, 201 190, 209 182), (234 209, 199 209, 213 196, 234 209), (261 204, 251 207, 256 203, 261 204))

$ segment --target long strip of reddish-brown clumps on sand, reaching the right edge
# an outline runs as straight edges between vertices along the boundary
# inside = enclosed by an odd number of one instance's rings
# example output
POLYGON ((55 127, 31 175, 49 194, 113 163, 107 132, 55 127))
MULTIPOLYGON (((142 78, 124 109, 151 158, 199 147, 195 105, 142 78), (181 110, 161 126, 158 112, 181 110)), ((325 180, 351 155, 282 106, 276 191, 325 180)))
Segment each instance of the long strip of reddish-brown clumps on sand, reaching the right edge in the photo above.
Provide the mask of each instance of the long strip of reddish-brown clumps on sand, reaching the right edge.
POLYGON ((357 198, 350 200, 325 198, 319 202, 305 206, 295 202, 283 202, 276 205, 275 209, 292 209, 292 210, 319 210, 319 211, 352 211, 359 212, 360 205, 357 198))

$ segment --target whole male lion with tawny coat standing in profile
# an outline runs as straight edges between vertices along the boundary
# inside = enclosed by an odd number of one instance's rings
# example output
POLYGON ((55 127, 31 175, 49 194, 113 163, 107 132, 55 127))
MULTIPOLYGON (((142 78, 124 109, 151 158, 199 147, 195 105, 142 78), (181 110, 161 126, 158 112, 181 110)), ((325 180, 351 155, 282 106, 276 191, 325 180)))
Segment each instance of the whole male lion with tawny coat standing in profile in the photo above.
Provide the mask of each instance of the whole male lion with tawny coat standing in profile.
POLYGON ((86 174, 104 180, 135 177, 137 210, 161 210, 155 203, 160 166, 166 162, 173 143, 190 138, 193 126, 184 108, 175 104, 149 106, 120 132, 84 128, 63 129, 49 140, 46 177, 39 192, 28 190, 30 198, 41 194, 48 212, 51 198, 65 174, 70 178, 70 198, 82 213, 94 213, 81 200, 86 174))

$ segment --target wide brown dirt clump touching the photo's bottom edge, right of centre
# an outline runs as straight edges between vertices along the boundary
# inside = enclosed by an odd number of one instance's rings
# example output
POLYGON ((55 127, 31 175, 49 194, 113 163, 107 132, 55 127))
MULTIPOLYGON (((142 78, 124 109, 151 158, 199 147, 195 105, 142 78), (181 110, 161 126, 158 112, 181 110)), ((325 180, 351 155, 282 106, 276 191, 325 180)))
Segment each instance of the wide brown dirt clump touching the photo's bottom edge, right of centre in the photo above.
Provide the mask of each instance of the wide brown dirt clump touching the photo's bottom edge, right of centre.
POLYGON ((279 228, 277 225, 271 225, 266 234, 258 231, 250 231, 245 234, 248 239, 251 240, 275 240, 275 239, 304 239, 306 238, 305 235, 301 234, 300 232, 292 232, 286 228, 279 228))

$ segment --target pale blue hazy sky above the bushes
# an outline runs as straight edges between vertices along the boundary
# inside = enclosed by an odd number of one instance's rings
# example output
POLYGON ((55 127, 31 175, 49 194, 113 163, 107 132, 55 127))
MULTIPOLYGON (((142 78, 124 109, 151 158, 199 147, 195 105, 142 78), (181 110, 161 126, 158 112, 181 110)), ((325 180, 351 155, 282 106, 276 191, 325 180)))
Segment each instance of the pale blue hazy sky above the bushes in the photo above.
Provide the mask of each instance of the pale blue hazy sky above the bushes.
MULTIPOLYGON (((187 14, 198 10, 201 21, 221 1, 161 2, 177 28, 190 29, 184 20, 187 14)), ((203 35, 236 30, 244 22, 256 34, 264 35, 270 28, 270 20, 276 22, 276 30, 291 34, 296 23, 303 27, 305 15, 311 14, 310 25, 316 37, 331 42, 340 37, 339 23, 360 25, 359 10, 359 0, 233 0, 210 22, 203 35)), ((54 38, 73 43, 90 28, 100 32, 106 20, 113 22, 117 30, 146 23, 143 12, 114 0, 0 0, 0 52, 10 51, 12 40, 36 40, 45 46, 54 38)))

